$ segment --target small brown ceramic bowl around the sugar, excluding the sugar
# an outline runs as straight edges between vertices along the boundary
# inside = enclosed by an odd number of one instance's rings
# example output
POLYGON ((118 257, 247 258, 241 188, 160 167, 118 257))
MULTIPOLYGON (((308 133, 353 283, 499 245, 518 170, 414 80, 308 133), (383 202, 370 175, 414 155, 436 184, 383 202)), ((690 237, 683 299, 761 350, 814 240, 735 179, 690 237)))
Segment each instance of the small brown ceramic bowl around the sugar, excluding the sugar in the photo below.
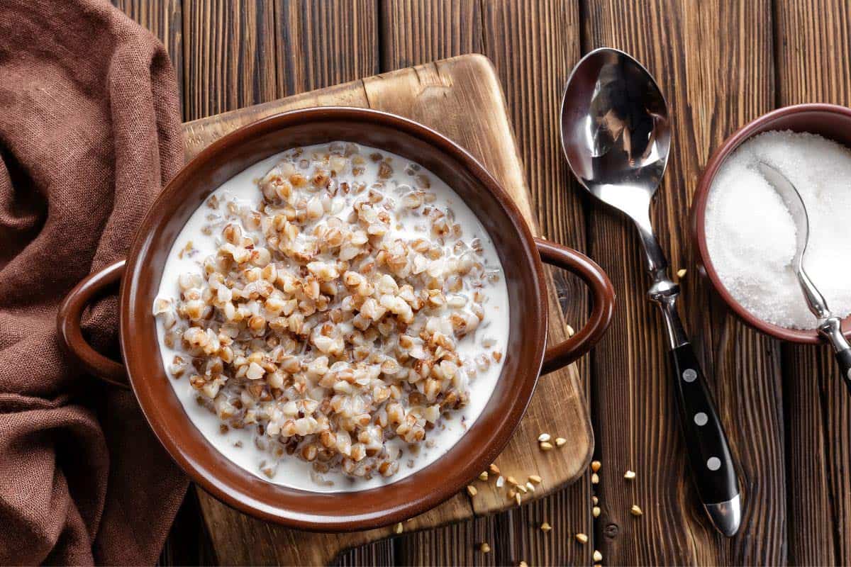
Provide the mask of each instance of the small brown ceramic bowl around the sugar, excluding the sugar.
MULTIPOLYGON (((785 106, 776 111, 760 116, 749 122, 745 127, 730 136, 720 148, 715 150, 711 160, 706 165, 703 176, 700 178, 697 192, 694 194, 692 205, 691 227, 694 243, 698 251, 698 260, 702 271, 712 282, 718 294, 727 302, 741 320, 772 337, 780 338, 793 343, 820 343, 821 339, 815 329, 803 331, 801 329, 788 329, 784 326, 774 325, 767 321, 757 319, 737 302, 724 287, 718 277, 715 268, 712 267, 712 258, 706 248, 705 213, 706 201, 709 198, 709 190, 712 179, 724 160, 738 148, 745 140, 757 134, 769 130, 791 130, 793 132, 809 132, 832 139, 842 145, 851 148, 851 109, 837 105, 795 105, 785 106)), ((803 301, 803 298, 801 298, 803 301)), ((842 320, 842 333, 851 338, 851 316, 842 320)))

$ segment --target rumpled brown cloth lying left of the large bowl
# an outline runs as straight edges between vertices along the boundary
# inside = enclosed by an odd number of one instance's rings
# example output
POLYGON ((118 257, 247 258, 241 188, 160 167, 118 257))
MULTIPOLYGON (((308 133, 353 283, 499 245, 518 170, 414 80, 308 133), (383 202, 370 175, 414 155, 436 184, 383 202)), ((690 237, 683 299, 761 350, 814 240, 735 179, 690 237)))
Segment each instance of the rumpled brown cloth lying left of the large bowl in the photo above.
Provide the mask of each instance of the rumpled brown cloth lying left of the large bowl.
MULTIPOLYGON (((186 478, 133 394, 81 376, 54 329, 182 156, 155 37, 105 1, 0 0, 0 564, 157 560, 186 478)), ((84 323, 116 352, 115 298, 84 323)))

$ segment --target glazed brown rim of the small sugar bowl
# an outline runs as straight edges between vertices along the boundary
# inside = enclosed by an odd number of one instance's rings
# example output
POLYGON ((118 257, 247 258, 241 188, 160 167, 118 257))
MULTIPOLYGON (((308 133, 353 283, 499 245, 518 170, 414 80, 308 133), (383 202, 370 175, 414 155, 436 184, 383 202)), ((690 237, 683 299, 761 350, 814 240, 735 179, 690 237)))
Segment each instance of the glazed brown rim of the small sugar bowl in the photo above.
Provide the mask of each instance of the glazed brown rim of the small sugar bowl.
MULTIPOLYGON (((736 148, 742 145, 745 140, 750 139, 757 133, 768 132, 771 130, 772 128, 770 128, 770 126, 773 122, 777 122, 786 116, 803 112, 833 113, 846 116, 848 119, 851 119, 851 109, 839 105, 814 103, 784 106, 783 108, 768 112, 767 114, 759 116, 755 120, 745 124, 745 126, 737 130, 732 136, 726 139, 724 143, 715 150, 715 152, 713 152, 709 163, 706 164, 704 172, 700 176, 700 184, 698 184, 697 191, 694 193, 691 226, 692 239, 697 247, 698 254, 700 256, 700 264, 703 267, 705 275, 712 282, 712 286, 715 288, 716 292, 721 296, 724 302, 728 304, 730 309, 733 309, 734 313, 738 315, 741 320, 743 320, 747 325, 757 329, 757 331, 764 332, 767 335, 779 338, 780 340, 790 341, 791 343, 815 344, 822 342, 818 331, 815 329, 789 329, 784 326, 774 325, 774 323, 769 323, 768 321, 758 319, 756 316, 751 315, 751 313, 745 309, 741 303, 735 300, 735 298, 723 285, 721 278, 718 277, 715 267, 712 265, 709 250, 706 247, 705 232, 705 213, 706 203, 709 199, 709 190, 712 186, 712 180, 715 179, 718 169, 720 169, 724 160, 726 160, 727 157, 736 150, 736 148)), ((842 333, 845 337, 851 338, 851 315, 842 320, 842 327, 844 327, 842 333)))

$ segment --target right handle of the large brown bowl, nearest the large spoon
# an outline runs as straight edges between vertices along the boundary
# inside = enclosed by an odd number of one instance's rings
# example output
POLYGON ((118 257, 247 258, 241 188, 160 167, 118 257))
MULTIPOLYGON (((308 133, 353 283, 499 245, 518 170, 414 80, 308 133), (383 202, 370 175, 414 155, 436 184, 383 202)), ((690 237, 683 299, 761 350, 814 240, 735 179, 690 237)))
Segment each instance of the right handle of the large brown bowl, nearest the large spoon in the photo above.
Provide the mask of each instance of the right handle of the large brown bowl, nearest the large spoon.
POLYGON ((591 288, 591 298, 594 302, 591 316, 579 332, 546 349, 544 366, 540 371, 541 374, 546 374, 568 366, 591 350, 603 338, 609 323, 612 322, 614 287, 608 280, 606 272, 582 252, 576 252, 572 248, 559 246, 540 238, 535 238, 534 243, 538 247, 540 259, 545 264, 567 269, 568 272, 580 276, 585 285, 591 288))

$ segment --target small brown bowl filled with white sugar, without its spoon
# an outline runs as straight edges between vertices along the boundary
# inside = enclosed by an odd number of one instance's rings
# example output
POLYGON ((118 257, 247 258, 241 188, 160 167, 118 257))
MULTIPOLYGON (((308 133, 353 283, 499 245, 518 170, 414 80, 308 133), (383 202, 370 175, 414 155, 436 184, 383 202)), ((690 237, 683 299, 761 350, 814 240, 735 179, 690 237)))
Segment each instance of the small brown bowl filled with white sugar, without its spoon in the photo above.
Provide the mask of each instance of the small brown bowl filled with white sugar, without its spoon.
POLYGON ((804 264, 851 337, 851 109, 808 104, 760 116, 730 136, 705 168, 691 228, 704 274, 748 325, 795 343, 820 343, 792 269, 791 213, 755 165, 791 180, 809 216, 804 264))

